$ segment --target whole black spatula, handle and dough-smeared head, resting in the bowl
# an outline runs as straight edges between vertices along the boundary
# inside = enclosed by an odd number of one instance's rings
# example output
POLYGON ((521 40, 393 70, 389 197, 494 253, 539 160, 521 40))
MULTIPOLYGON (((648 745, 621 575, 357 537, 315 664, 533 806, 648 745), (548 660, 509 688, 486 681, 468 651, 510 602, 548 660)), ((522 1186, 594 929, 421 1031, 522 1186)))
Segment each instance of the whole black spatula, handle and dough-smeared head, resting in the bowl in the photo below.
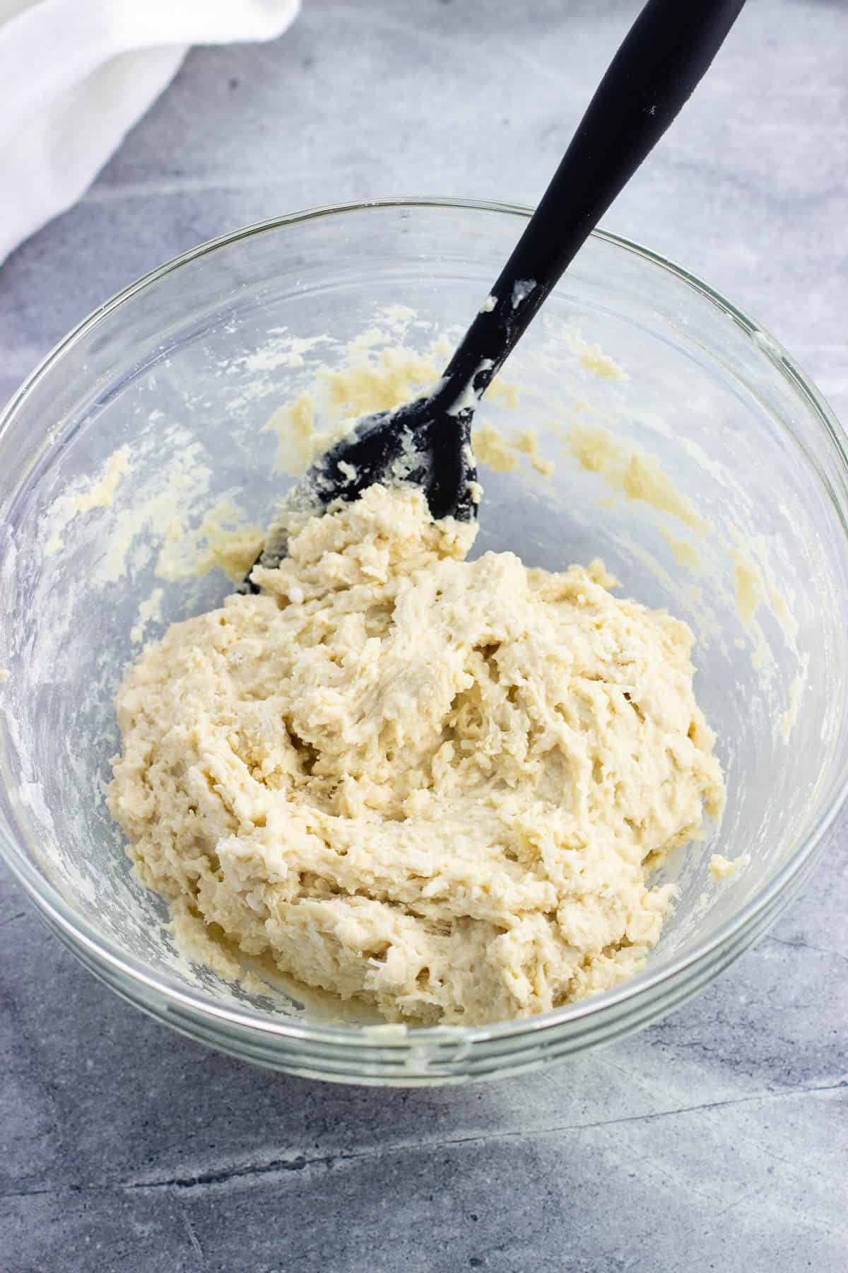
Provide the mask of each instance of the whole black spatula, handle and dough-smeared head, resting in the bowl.
MULTIPOLYGON (((286 508, 320 512, 374 482, 418 484, 434 517, 477 513, 474 407, 548 293, 701 80, 744 0, 648 0, 615 53, 512 256, 427 397, 360 419, 286 508)), ((258 558, 286 555, 285 512, 258 558)), ((254 584, 248 583, 254 588, 254 584)))

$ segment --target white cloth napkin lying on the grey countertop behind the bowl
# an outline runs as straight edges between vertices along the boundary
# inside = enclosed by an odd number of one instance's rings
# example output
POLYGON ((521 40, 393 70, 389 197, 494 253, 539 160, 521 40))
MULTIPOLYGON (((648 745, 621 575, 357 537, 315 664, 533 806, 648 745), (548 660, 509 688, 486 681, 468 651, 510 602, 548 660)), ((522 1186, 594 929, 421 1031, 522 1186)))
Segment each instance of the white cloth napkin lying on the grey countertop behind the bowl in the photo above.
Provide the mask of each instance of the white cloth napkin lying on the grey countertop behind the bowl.
POLYGON ((0 262, 75 204, 189 45, 273 39, 300 0, 0 0, 0 262))

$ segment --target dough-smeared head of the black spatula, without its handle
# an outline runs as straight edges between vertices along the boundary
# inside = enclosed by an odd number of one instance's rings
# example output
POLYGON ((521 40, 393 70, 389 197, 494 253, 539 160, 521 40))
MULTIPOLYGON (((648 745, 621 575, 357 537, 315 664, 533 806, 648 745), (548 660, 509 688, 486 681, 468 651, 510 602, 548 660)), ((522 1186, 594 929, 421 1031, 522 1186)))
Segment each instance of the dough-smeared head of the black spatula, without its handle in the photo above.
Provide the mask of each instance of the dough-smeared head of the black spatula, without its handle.
MULTIPOLYGON (((280 565, 287 554, 292 513, 320 514, 338 499, 357 499, 375 482, 421 486, 434 517, 475 518, 479 485, 470 446, 472 416, 470 406, 453 414, 432 398, 418 398, 359 420, 286 495, 254 564, 280 565)), ((243 591, 258 592, 249 575, 243 591)))

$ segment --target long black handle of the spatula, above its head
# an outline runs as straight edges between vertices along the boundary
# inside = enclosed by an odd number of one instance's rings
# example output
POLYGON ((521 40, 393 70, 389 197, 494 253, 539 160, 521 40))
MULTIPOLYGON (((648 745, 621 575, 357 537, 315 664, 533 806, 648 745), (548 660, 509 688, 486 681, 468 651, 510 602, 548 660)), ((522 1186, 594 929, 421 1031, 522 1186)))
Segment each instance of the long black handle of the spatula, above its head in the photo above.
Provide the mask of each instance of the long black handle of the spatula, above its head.
POLYGON ((439 400, 479 397, 718 52, 744 0, 648 0, 553 181, 454 354, 439 400))

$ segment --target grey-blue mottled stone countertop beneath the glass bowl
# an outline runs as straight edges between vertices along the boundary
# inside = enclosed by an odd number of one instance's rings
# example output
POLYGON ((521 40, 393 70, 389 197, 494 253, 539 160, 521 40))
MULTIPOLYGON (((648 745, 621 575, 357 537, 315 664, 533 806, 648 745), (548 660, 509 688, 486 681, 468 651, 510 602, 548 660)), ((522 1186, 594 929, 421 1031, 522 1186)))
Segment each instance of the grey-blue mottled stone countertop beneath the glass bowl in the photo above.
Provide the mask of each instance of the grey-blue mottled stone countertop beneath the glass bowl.
MULTIPOLYGON (((0 270, 0 400, 103 298, 276 213, 533 202, 636 0, 304 0, 193 51, 0 270)), ((758 0, 605 218, 754 314, 848 419, 848 6, 758 0)), ((0 877, 0 1269, 492 1273, 848 1260, 848 820, 802 897, 660 1025, 465 1090, 305 1082, 93 980, 0 877)))

